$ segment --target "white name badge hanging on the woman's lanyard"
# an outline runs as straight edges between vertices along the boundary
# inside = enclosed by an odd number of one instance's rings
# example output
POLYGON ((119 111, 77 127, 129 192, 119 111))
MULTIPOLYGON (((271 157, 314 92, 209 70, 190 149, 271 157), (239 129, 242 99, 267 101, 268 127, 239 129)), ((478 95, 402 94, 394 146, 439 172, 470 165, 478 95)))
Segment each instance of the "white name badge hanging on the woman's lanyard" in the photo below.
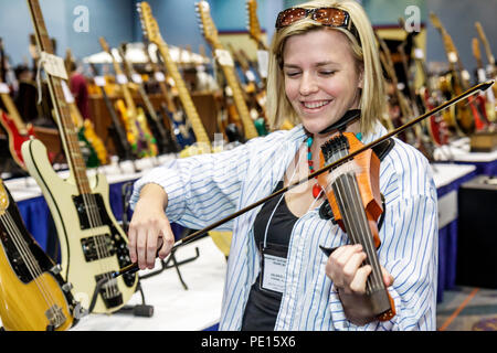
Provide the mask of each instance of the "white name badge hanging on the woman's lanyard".
POLYGON ((265 248, 261 245, 262 265, 260 287, 263 290, 283 293, 285 290, 286 246, 267 244, 265 248))

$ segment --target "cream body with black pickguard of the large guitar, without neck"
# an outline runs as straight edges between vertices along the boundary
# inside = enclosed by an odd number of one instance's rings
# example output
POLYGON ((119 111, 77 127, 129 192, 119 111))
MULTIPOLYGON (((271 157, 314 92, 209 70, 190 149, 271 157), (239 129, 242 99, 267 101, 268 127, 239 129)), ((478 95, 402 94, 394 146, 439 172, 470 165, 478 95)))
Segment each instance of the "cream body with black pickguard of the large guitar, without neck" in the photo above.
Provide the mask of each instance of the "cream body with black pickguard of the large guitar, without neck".
MULTIPOLYGON (((75 298, 87 308, 97 281, 110 278, 113 271, 131 263, 127 237, 110 211, 108 184, 104 175, 97 174, 91 180, 91 194, 80 195, 71 176, 63 180, 52 169, 42 142, 35 139, 25 142, 22 154, 55 222, 62 276, 73 285, 75 298), (96 205, 89 212, 85 208, 85 197, 96 205)), ((136 286, 136 275, 110 279, 99 291, 93 311, 118 310, 133 296, 136 286)))

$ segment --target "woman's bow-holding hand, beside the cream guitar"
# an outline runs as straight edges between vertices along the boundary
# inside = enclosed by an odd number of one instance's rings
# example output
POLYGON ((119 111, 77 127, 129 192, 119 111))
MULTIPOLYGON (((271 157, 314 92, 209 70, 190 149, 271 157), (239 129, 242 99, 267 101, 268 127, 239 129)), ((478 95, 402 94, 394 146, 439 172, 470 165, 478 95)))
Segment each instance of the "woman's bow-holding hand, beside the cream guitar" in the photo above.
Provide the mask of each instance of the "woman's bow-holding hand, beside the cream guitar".
POLYGON ((129 223, 128 248, 133 263, 140 269, 154 268, 157 257, 166 258, 175 244, 175 235, 166 216, 167 194, 157 184, 141 189, 129 223))

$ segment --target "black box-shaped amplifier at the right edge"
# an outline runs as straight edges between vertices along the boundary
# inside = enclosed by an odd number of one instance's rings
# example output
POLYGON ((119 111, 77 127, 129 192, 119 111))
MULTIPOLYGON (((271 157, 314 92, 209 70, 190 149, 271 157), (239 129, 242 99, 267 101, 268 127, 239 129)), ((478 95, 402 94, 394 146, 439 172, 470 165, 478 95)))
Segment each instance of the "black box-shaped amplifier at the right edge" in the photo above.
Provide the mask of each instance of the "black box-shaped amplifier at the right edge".
POLYGON ((461 185, 457 227, 456 284, 497 289, 497 178, 461 185))

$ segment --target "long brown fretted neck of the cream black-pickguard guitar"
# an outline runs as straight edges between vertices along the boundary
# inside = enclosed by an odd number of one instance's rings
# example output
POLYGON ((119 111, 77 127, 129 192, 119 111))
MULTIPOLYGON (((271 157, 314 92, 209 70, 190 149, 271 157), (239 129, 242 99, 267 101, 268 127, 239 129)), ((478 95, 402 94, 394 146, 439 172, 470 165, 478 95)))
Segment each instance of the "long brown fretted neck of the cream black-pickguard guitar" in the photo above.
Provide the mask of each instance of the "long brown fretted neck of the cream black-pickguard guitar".
MULTIPOLYGON (((52 42, 50 41, 46 32, 40 3, 38 0, 28 0, 28 4, 31 18, 33 20, 34 32, 40 51, 52 54, 52 42)), ((77 128, 72 121, 71 110, 65 101, 61 84, 63 79, 49 73, 46 73, 46 78, 68 167, 73 173, 74 180, 76 181, 78 192, 81 194, 91 193, 89 182, 86 175, 86 164, 80 149, 77 128)))

